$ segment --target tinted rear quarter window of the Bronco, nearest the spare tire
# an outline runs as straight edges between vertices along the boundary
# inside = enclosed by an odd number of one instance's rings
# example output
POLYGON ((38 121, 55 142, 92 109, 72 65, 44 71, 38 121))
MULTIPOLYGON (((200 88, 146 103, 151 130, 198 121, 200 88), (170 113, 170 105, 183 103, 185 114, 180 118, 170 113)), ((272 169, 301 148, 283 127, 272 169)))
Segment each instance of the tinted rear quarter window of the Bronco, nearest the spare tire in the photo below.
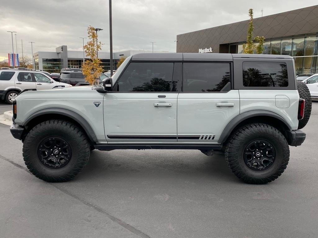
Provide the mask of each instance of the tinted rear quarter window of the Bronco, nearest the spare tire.
POLYGON ((287 65, 283 62, 243 62, 244 87, 287 87, 287 65))

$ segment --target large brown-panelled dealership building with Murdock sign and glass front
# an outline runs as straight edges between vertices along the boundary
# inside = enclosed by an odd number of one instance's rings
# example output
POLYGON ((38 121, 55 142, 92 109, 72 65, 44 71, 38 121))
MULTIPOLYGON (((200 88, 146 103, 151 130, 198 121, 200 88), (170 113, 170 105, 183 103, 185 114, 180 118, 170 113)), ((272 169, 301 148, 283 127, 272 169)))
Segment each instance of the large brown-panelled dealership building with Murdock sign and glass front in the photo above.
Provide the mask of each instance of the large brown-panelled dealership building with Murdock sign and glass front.
MULTIPOLYGON (((176 52, 242 53, 249 20, 177 35, 176 52)), ((290 55, 297 74, 318 73, 318 5, 254 18, 263 54, 290 55)))

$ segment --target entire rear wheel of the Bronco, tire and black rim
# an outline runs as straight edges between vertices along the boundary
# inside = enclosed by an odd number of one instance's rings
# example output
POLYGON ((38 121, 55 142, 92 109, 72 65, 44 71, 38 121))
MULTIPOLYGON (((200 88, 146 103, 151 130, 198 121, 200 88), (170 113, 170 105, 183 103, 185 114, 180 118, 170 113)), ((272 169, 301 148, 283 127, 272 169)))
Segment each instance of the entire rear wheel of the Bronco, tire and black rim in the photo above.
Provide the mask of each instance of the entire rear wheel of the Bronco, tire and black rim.
POLYGON ((264 184, 277 179, 289 161, 289 146, 276 128, 253 123, 237 129, 225 147, 229 168, 242 181, 264 184))

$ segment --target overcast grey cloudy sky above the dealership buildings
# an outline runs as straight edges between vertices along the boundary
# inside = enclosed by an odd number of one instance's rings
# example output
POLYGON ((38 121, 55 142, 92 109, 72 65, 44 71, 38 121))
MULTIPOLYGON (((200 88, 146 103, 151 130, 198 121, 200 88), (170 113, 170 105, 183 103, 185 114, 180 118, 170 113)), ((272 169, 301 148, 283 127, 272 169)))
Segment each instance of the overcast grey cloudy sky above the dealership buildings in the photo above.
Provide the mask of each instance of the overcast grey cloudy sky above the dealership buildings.
MULTIPOLYGON (((113 50, 176 51, 176 35, 248 19, 299 9, 317 0, 113 0, 113 50)), ((17 50, 21 54, 55 51, 60 45, 82 50, 87 27, 102 28, 102 51, 109 51, 108 0, 15 0, 0 6, 0 60, 12 51, 11 34, 17 31, 17 50)), ((15 37, 15 36, 13 36, 15 37)), ((16 51, 15 38, 14 51, 16 51)))

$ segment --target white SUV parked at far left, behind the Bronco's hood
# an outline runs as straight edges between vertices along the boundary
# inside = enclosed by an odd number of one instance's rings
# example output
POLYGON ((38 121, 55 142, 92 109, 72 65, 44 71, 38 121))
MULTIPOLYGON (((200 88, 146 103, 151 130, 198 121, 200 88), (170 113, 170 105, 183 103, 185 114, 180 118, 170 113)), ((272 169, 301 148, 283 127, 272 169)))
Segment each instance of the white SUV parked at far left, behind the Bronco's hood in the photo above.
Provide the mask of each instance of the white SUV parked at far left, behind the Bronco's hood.
POLYGON ((0 99, 12 104, 12 100, 25 90, 46 90, 71 87, 70 84, 54 81, 41 71, 4 69, 0 70, 0 99))

